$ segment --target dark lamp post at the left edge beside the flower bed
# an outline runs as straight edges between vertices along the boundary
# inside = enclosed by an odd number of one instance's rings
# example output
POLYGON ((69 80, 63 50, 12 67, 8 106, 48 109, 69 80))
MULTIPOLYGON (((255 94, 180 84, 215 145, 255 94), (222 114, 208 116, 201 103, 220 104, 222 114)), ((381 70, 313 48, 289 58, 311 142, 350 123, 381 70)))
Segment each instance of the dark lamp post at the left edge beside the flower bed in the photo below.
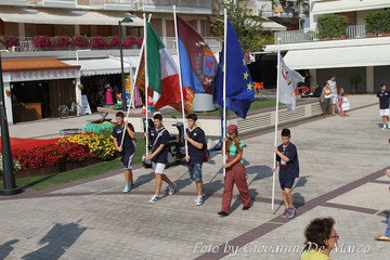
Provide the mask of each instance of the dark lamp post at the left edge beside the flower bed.
POLYGON ((0 52, 0 120, 1 120, 1 148, 3 162, 3 184, 0 188, 0 195, 15 195, 22 193, 22 188, 16 186, 15 173, 13 172, 10 132, 8 128, 5 104, 4 104, 4 86, 2 79, 1 52, 0 52))

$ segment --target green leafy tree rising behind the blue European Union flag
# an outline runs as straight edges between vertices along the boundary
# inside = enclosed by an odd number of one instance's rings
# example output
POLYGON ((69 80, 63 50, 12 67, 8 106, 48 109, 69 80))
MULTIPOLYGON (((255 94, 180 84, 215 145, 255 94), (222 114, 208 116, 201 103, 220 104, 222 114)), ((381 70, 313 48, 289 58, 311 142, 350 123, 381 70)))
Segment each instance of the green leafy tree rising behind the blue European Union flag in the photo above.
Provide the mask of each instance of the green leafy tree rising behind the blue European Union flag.
POLYGON ((243 51, 261 51, 264 44, 273 43, 273 37, 264 34, 261 26, 261 13, 253 15, 248 9, 249 0, 219 0, 220 13, 211 21, 212 32, 220 41, 224 38, 223 9, 238 37, 243 51))

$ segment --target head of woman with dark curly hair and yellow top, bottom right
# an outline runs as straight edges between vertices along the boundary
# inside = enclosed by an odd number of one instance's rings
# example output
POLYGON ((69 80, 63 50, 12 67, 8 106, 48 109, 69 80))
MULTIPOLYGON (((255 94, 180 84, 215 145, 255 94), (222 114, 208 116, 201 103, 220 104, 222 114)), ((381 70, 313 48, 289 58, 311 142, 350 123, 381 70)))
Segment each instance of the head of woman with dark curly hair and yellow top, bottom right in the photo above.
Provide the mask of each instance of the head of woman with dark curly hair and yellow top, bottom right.
POLYGON ((339 235, 333 218, 314 219, 304 230, 304 249, 301 260, 332 260, 329 255, 339 235))

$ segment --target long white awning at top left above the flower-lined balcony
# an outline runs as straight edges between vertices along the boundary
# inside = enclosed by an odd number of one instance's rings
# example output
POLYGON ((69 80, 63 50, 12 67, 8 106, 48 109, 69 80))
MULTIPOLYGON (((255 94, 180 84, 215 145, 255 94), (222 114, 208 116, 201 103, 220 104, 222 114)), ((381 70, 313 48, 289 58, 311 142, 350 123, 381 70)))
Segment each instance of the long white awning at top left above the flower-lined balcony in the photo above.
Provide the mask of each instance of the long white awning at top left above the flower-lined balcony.
POLYGON ((26 24, 60 24, 60 25, 118 25, 123 17, 133 22, 122 23, 123 26, 142 27, 143 21, 127 12, 67 10, 67 9, 34 9, 34 8, 0 8, 0 18, 10 23, 26 24))

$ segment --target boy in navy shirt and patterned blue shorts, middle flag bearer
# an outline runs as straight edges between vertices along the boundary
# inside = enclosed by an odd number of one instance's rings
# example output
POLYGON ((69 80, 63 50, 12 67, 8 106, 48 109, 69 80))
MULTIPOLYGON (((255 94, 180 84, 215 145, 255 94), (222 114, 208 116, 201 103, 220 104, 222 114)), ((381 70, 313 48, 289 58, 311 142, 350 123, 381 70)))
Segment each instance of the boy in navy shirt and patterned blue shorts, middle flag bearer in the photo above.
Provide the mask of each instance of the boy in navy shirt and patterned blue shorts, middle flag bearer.
POLYGON ((202 179, 202 165, 206 156, 206 139, 204 130, 196 125, 196 121, 197 116, 195 114, 187 116, 188 128, 186 129, 186 134, 184 134, 184 140, 188 143, 188 155, 185 156, 185 160, 188 164, 190 178, 195 182, 198 195, 195 199, 195 205, 200 206, 206 198, 202 179))

